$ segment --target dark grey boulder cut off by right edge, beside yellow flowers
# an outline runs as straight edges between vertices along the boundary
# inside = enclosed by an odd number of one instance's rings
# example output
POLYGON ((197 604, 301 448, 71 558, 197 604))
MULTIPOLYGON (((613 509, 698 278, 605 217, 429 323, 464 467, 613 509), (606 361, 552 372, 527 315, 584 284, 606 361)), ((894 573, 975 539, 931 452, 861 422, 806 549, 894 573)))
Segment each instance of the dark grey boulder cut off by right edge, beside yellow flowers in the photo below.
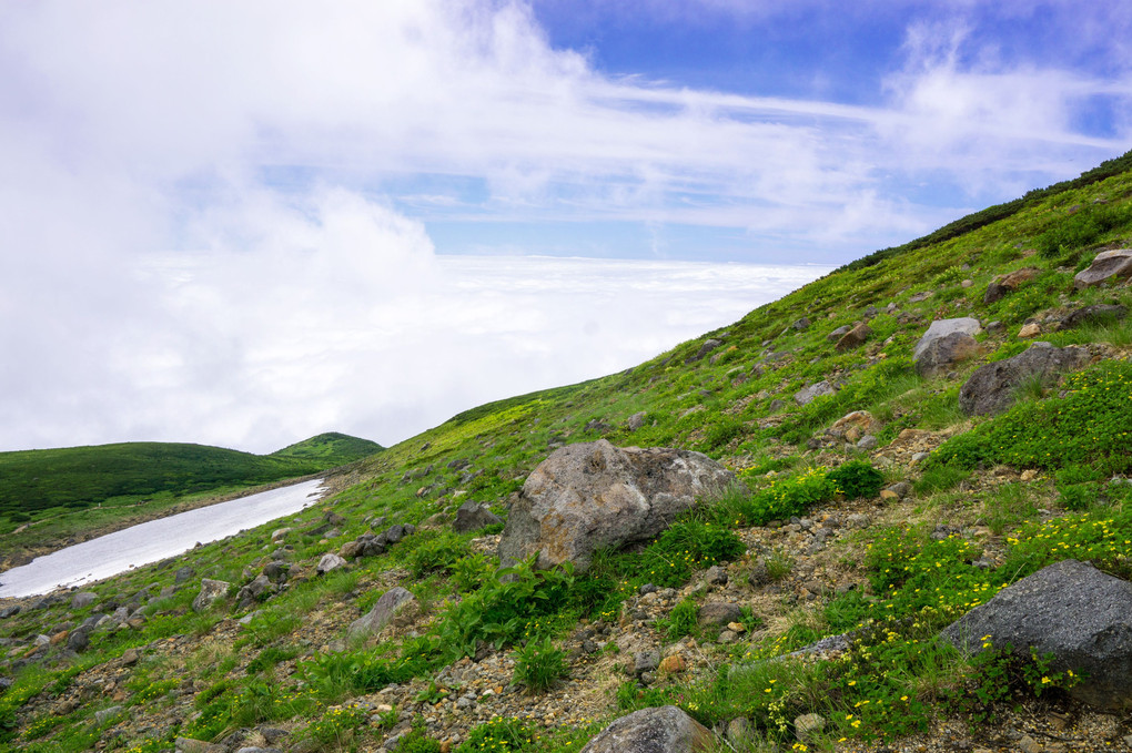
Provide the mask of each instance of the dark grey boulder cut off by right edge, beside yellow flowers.
POLYGON ((1050 669, 1082 677, 1074 698, 1108 710, 1132 709, 1132 583, 1064 560, 1003 589, 943 631, 967 654, 997 649, 1053 655, 1050 669))

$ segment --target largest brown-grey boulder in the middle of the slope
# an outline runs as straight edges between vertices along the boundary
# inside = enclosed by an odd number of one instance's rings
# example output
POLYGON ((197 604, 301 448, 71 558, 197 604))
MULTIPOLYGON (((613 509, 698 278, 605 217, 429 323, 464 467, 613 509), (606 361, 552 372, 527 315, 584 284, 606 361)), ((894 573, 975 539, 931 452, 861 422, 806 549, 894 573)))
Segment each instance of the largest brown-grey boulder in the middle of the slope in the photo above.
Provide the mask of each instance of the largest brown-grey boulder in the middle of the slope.
POLYGON ((499 542, 504 564, 538 554, 539 568, 599 548, 652 538, 697 499, 737 483, 735 474, 688 450, 617 448, 606 440, 555 450, 512 502, 499 542))

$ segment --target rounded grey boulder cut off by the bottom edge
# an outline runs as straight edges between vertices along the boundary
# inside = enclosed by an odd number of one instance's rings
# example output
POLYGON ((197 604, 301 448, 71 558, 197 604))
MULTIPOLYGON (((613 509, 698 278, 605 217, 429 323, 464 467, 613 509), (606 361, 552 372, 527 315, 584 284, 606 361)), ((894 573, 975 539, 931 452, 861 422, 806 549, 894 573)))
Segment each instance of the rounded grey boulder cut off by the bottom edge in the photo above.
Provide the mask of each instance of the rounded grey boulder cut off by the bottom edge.
POLYGON ((675 706, 641 709, 617 719, 582 753, 698 753, 711 751, 711 730, 675 706))

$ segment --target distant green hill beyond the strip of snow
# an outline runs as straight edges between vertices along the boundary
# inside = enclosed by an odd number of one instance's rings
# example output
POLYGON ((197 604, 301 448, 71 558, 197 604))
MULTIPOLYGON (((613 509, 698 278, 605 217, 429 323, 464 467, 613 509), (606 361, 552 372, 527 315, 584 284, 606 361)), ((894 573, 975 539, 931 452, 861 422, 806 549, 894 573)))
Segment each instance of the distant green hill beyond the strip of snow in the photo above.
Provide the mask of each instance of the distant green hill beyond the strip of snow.
POLYGON ((0 513, 254 486, 319 473, 380 450, 376 442, 332 433, 267 456, 170 442, 0 452, 0 513))

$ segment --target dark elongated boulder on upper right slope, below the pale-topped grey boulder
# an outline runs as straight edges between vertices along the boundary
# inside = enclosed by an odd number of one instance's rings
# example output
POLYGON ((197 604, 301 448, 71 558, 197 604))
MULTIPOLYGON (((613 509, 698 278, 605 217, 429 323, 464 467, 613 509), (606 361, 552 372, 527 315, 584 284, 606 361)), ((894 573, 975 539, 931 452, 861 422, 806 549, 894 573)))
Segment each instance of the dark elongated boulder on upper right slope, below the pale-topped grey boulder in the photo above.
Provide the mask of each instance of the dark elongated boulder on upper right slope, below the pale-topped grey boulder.
POLYGON ((971 374, 959 390, 959 407, 968 416, 1002 413, 1014 403, 1014 392, 1026 380, 1034 376, 1047 380, 1081 369, 1089 357, 1084 348, 1055 348, 1049 343, 1035 343, 1023 353, 988 363, 971 374))

